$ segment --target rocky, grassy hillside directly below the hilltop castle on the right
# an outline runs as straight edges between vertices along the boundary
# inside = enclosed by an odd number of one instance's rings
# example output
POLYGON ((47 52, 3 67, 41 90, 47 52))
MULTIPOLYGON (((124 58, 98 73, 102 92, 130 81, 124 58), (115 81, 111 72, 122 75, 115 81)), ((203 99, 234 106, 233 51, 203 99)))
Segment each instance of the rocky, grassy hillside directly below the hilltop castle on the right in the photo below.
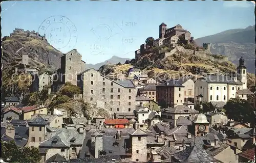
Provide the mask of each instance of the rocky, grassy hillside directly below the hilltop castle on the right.
MULTIPOLYGON (((108 76, 121 76, 126 75, 131 67, 139 68, 149 77, 163 81, 184 75, 196 78, 206 73, 234 73, 237 65, 221 55, 212 55, 203 49, 194 51, 177 46, 170 52, 158 54, 153 50, 133 59, 130 64, 104 65, 99 70, 108 76), (170 56, 163 58, 163 54, 170 56)), ((254 74, 248 73, 247 84, 249 88, 255 84, 254 74)))

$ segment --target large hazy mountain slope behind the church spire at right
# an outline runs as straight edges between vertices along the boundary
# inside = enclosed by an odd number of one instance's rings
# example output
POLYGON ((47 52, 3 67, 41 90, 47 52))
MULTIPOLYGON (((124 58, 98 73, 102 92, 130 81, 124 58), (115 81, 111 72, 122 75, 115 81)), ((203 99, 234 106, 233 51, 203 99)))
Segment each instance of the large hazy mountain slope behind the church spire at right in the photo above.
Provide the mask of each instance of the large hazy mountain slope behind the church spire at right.
POLYGON ((255 71, 255 25, 245 29, 233 29, 221 33, 205 36, 195 40, 198 45, 211 43, 210 51, 229 57, 234 64, 243 53, 248 72, 255 71))

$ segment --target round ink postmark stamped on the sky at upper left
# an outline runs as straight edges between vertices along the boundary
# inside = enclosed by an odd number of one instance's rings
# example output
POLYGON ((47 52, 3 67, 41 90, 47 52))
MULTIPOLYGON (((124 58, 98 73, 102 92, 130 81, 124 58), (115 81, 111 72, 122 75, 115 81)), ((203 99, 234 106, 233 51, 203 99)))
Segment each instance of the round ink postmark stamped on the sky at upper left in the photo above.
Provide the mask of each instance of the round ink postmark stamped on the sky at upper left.
POLYGON ((38 33, 56 49, 69 51, 77 42, 76 26, 65 16, 48 17, 40 24, 38 33))

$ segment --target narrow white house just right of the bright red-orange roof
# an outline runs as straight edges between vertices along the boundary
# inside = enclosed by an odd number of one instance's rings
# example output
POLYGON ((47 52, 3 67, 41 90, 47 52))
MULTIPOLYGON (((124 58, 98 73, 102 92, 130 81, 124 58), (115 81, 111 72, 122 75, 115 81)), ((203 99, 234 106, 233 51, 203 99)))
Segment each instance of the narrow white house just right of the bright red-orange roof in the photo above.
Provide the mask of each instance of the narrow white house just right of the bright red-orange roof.
POLYGON ((145 123, 145 120, 148 118, 151 112, 152 111, 148 107, 142 105, 136 106, 135 115, 138 117, 139 125, 143 125, 145 123))

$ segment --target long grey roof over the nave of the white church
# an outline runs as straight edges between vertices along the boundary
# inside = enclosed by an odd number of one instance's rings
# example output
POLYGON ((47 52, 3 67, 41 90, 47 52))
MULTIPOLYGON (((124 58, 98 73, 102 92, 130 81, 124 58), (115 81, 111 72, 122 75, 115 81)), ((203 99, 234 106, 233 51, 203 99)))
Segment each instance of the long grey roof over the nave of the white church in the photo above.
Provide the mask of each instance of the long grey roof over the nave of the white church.
POLYGON ((206 77, 199 78, 199 80, 207 83, 225 83, 231 85, 243 85, 240 81, 235 82, 231 76, 228 75, 207 75, 206 77))

